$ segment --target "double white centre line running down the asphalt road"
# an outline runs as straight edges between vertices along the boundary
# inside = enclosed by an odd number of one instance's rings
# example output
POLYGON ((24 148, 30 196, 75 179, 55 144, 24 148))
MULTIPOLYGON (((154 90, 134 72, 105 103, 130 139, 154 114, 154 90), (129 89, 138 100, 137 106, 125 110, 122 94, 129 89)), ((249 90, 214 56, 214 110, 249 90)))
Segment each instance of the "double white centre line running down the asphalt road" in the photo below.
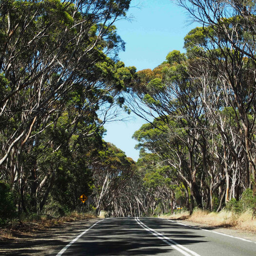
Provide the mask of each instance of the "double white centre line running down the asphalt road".
POLYGON ((166 242, 167 244, 169 244, 170 246, 172 246, 173 248, 175 248, 177 251, 179 251, 180 253, 182 253, 183 255, 188 255, 186 252, 187 251, 189 253, 191 253, 192 255, 195 256, 199 256, 196 252, 189 250, 188 248, 178 244, 177 242, 175 242, 174 240, 170 239, 167 236, 163 236, 162 234, 158 233, 156 230, 149 228, 146 224, 144 224, 140 219, 138 219, 138 217, 136 217, 136 221, 137 223, 142 226, 145 230, 149 231, 150 233, 152 233, 153 235, 157 236, 159 239, 163 240, 164 242, 166 242), (141 223, 141 224, 140 224, 141 223), (183 251, 184 250, 184 251, 183 251))

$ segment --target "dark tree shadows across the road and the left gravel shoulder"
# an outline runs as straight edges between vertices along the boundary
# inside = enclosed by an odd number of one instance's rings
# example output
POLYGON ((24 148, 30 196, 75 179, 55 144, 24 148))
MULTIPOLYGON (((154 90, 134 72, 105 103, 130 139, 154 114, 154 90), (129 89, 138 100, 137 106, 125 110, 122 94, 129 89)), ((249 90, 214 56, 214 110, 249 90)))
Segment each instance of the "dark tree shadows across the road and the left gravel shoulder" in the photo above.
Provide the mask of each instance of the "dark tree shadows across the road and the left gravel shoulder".
MULTIPOLYGON (((84 222, 84 225, 70 223, 67 227, 60 225, 46 233, 37 232, 33 237, 24 236, 10 243, 3 243, 0 254, 7 256, 56 255, 95 222, 96 220, 90 223, 84 222)), ((203 236, 198 236, 193 231, 178 230, 175 225, 172 226, 172 230, 168 231, 170 224, 152 221, 146 223, 150 228, 161 230, 164 236, 175 240, 182 246, 206 242, 203 236)), ((134 218, 120 218, 106 219, 98 223, 72 244, 63 256, 164 255, 171 252, 177 253, 173 247, 142 229, 134 218)))

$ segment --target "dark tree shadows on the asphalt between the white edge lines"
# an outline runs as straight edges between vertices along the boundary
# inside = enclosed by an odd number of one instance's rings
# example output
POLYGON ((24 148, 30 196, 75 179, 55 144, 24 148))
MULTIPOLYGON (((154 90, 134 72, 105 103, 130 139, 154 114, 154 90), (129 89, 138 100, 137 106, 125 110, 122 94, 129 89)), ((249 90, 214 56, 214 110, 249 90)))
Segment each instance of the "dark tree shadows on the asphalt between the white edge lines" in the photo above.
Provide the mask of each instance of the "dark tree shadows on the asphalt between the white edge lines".
MULTIPOLYGON (((176 237, 176 242, 182 246, 206 242, 200 239, 203 236, 198 236, 190 231, 168 231, 167 229, 170 228, 168 224, 155 224, 151 221, 148 225, 153 229, 165 231, 164 235, 167 237, 176 237)), ((83 236, 64 255, 166 255, 171 252, 177 253, 170 244, 142 229, 135 219, 129 219, 126 222, 116 219, 115 224, 114 221, 108 220, 100 226, 96 226, 92 235, 83 236)))

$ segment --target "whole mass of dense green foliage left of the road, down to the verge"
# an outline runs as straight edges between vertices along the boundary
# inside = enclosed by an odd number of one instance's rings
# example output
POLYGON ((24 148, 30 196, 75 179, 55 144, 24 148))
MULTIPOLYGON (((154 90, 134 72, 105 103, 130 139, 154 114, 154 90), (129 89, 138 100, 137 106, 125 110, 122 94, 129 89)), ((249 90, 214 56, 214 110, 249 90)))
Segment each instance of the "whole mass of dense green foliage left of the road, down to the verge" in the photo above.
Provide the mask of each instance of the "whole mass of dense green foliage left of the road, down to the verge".
MULTIPOLYGON (((95 159, 117 172, 116 183, 134 165, 114 146, 104 151, 102 141, 109 110, 122 107, 119 91, 136 73, 118 61, 124 42, 113 25, 125 17, 130 1, 0 3, 0 146, 1 157, 8 156, 2 177, 20 194, 13 200, 20 216, 76 209, 78 197, 95 188, 95 159), (99 159, 102 151, 109 158, 99 159)), ((10 212, 0 216, 6 219, 13 212, 7 192, 1 200, 10 212)))

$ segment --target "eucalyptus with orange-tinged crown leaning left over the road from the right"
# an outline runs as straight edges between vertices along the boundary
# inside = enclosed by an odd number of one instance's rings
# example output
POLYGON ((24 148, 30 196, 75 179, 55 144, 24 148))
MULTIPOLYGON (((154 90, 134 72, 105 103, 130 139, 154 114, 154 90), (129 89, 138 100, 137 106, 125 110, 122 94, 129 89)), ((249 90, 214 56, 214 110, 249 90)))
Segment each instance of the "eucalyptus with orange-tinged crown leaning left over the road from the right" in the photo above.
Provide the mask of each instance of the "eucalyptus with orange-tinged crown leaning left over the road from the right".
MULTIPOLYGON (((136 102, 136 107, 132 104, 129 107, 145 119, 153 116, 161 121, 158 125, 154 122, 151 124, 167 136, 169 134, 172 137, 174 134, 183 144, 182 150, 188 150, 184 152, 182 159, 179 159, 188 175, 186 179, 183 176, 183 179, 190 187, 197 205, 202 207, 202 195, 198 184, 199 180, 203 179, 203 172, 198 166, 201 164, 201 158, 204 160, 208 154, 205 146, 207 134, 204 129, 207 118, 197 90, 189 77, 186 56, 179 51, 173 51, 166 59, 167 61, 151 72, 142 70, 136 73, 130 88, 131 101, 133 104, 136 102)), ((170 143, 169 147, 172 146, 170 143)), ((178 156, 182 156, 181 151, 178 156)))

